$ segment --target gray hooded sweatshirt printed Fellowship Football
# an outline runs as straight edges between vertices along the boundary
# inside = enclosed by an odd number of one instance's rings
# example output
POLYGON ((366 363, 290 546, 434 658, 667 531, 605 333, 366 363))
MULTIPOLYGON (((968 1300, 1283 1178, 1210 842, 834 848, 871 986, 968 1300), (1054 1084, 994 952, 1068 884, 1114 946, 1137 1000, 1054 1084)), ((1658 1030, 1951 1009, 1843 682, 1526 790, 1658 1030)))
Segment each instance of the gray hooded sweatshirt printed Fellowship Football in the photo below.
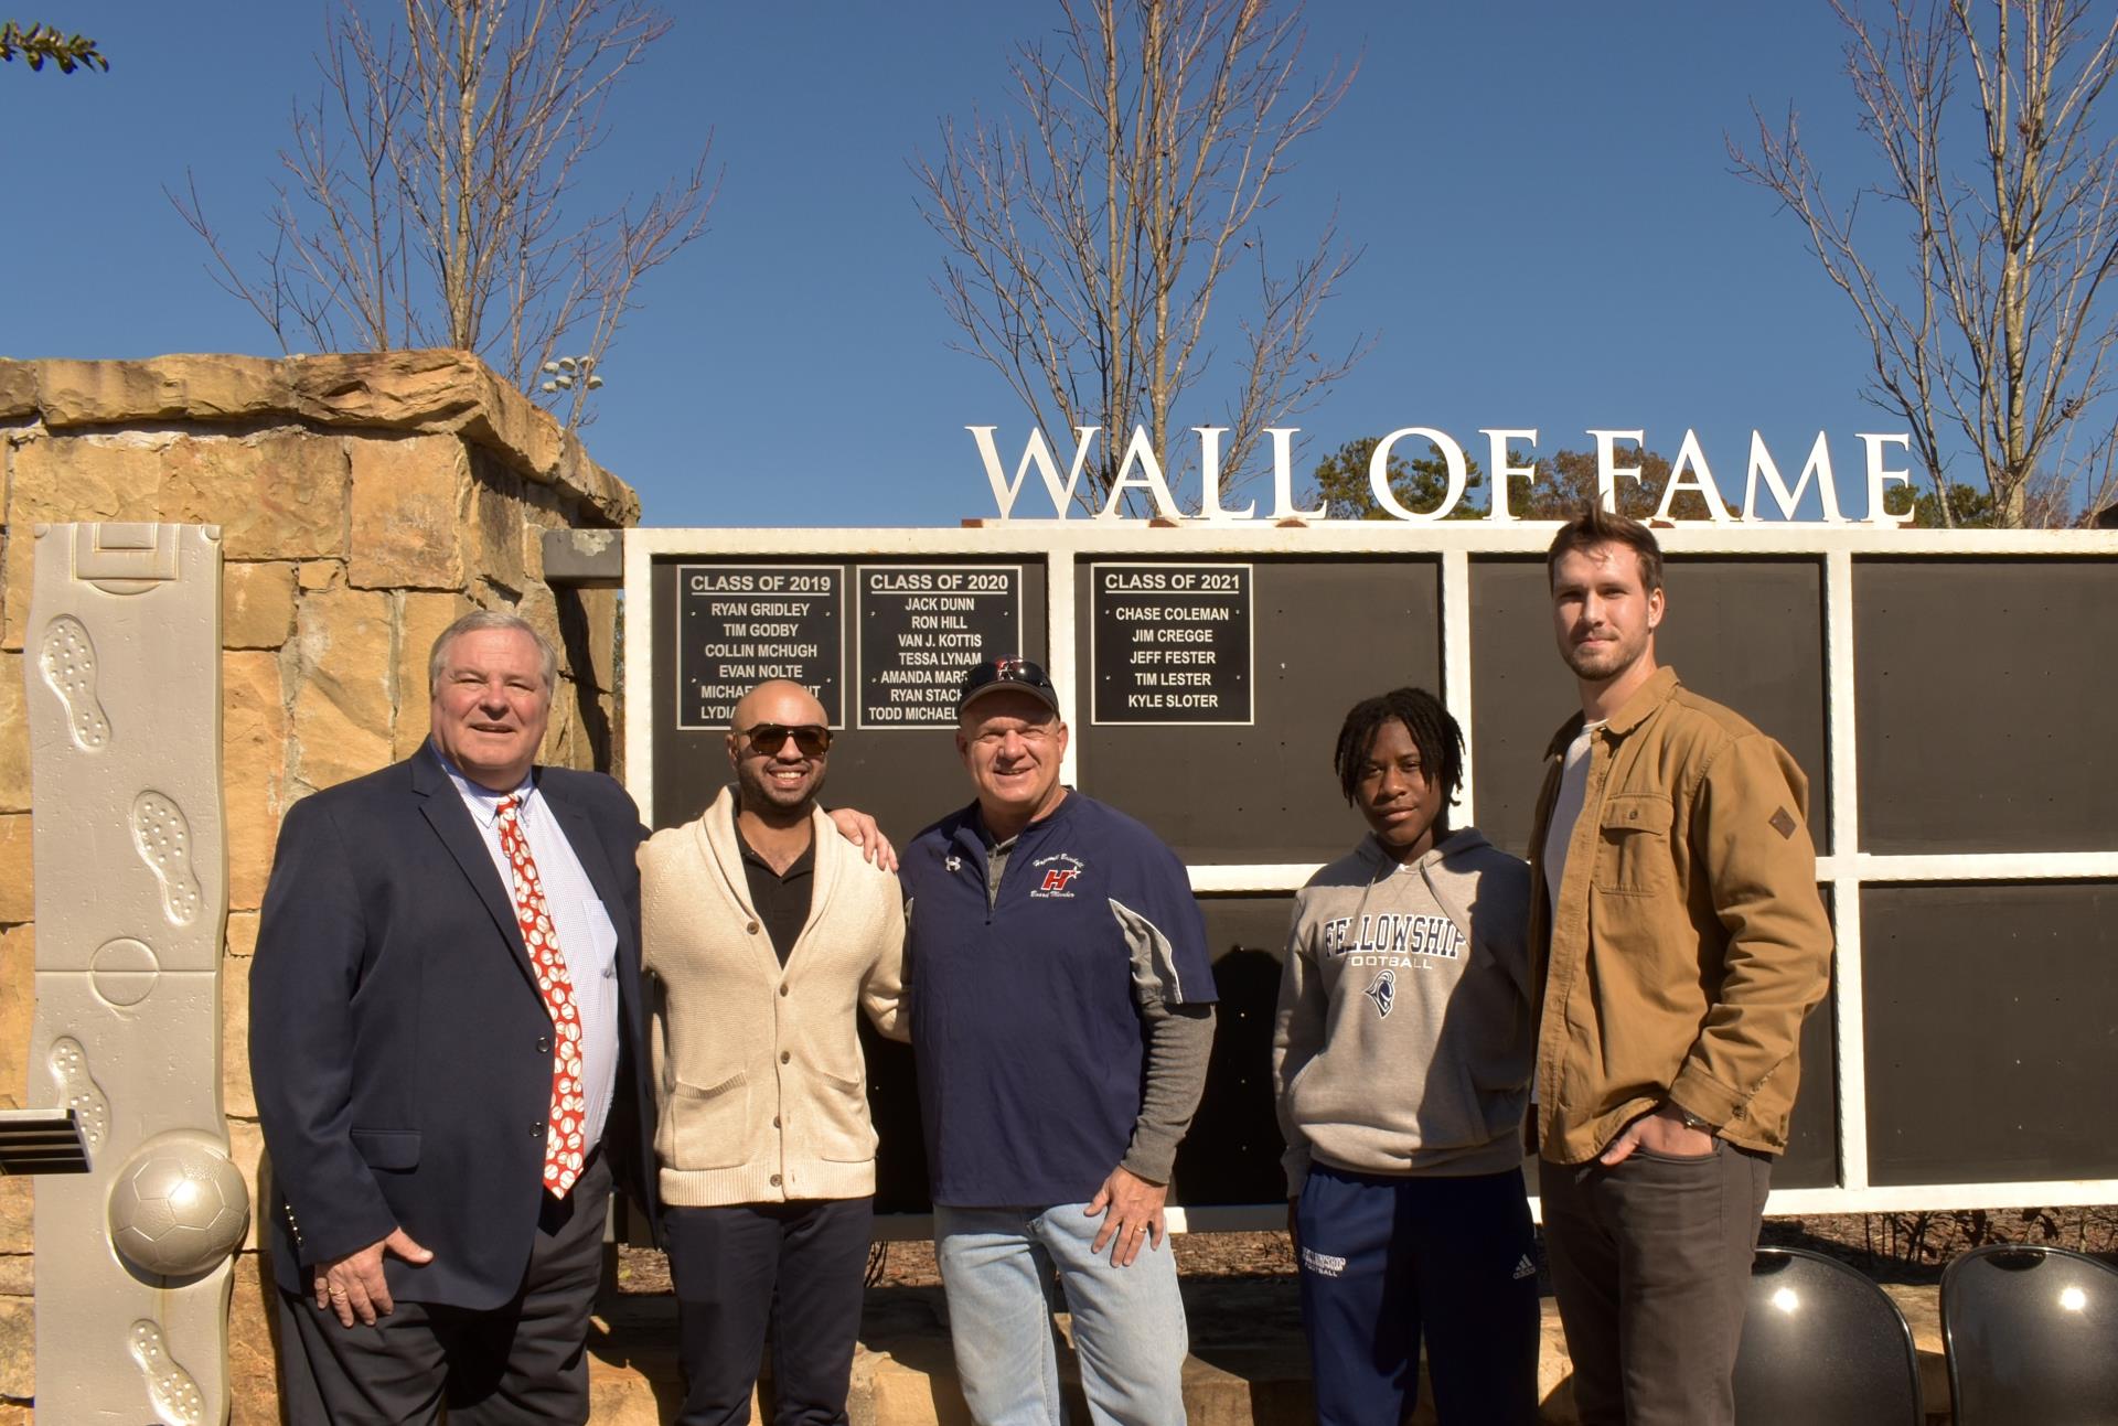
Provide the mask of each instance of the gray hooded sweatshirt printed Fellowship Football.
POLYGON ((1529 867, 1474 828, 1398 864, 1375 837, 1309 879, 1273 1026, 1288 1195, 1311 1157, 1360 1174, 1523 1161, 1529 867))

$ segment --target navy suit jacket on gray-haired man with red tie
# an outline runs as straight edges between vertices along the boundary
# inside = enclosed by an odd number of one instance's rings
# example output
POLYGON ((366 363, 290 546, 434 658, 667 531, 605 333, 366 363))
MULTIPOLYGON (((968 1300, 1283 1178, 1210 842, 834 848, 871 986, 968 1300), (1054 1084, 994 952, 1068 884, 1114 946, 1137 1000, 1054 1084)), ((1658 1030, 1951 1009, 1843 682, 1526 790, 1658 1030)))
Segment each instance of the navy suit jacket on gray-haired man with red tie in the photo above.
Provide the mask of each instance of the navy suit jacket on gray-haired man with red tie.
MULTIPOLYGON (((652 1218, 646 833, 610 778, 534 776, 618 932, 604 1153, 652 1218)), ((515 1295, 544 1193, 551 1015, 513 894, 432 744, 288 812, 250 962, 250 1079, 282 1288, 307 1295, 313 1263, 402 1227, 434 1261, 385 1254, 394 1299, 483 1309, 515 1295)))

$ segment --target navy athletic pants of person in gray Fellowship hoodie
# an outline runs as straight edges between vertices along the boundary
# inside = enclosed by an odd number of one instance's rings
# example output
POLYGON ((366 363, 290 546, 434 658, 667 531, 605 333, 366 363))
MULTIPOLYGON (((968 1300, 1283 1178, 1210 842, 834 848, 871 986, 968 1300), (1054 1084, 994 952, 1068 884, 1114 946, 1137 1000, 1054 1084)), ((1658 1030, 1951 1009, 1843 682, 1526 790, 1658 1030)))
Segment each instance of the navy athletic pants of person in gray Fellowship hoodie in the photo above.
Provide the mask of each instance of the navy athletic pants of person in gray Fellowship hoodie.
POLYGON ((1317 1426, 1398 1426, 1419 1339, 1442 1426, 1538 1418, 1536 1229, 1523 1172, 1309 1170, 1296 1210, 1317 1426))

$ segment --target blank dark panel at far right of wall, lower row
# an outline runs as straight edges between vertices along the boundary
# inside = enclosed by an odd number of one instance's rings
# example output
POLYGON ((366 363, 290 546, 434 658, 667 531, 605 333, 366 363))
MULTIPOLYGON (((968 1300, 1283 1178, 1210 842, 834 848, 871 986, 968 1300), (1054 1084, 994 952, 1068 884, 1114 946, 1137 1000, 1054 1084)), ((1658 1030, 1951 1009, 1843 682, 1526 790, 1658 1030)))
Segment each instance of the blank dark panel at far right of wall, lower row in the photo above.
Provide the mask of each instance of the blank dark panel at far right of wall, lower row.
POLYGON ((2118 1178, 2118 884, 1868 886, 1868 1180, 2118 1178))

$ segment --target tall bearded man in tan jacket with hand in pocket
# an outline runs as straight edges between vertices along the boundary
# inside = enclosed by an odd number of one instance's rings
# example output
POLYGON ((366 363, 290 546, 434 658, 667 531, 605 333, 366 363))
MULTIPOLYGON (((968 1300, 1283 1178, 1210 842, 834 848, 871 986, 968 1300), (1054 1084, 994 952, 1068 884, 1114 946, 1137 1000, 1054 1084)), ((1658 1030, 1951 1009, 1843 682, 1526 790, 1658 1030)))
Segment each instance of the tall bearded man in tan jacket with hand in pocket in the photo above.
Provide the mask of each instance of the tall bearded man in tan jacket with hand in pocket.
POLYGON ((1830 973, 1809 782, 1656 667, 1644 525, 1588 509, 1546 568, 1582 697, 1529 839, 1538 1187, 1574 1403, 1588 1426, 1716 1426, 1830 973))

